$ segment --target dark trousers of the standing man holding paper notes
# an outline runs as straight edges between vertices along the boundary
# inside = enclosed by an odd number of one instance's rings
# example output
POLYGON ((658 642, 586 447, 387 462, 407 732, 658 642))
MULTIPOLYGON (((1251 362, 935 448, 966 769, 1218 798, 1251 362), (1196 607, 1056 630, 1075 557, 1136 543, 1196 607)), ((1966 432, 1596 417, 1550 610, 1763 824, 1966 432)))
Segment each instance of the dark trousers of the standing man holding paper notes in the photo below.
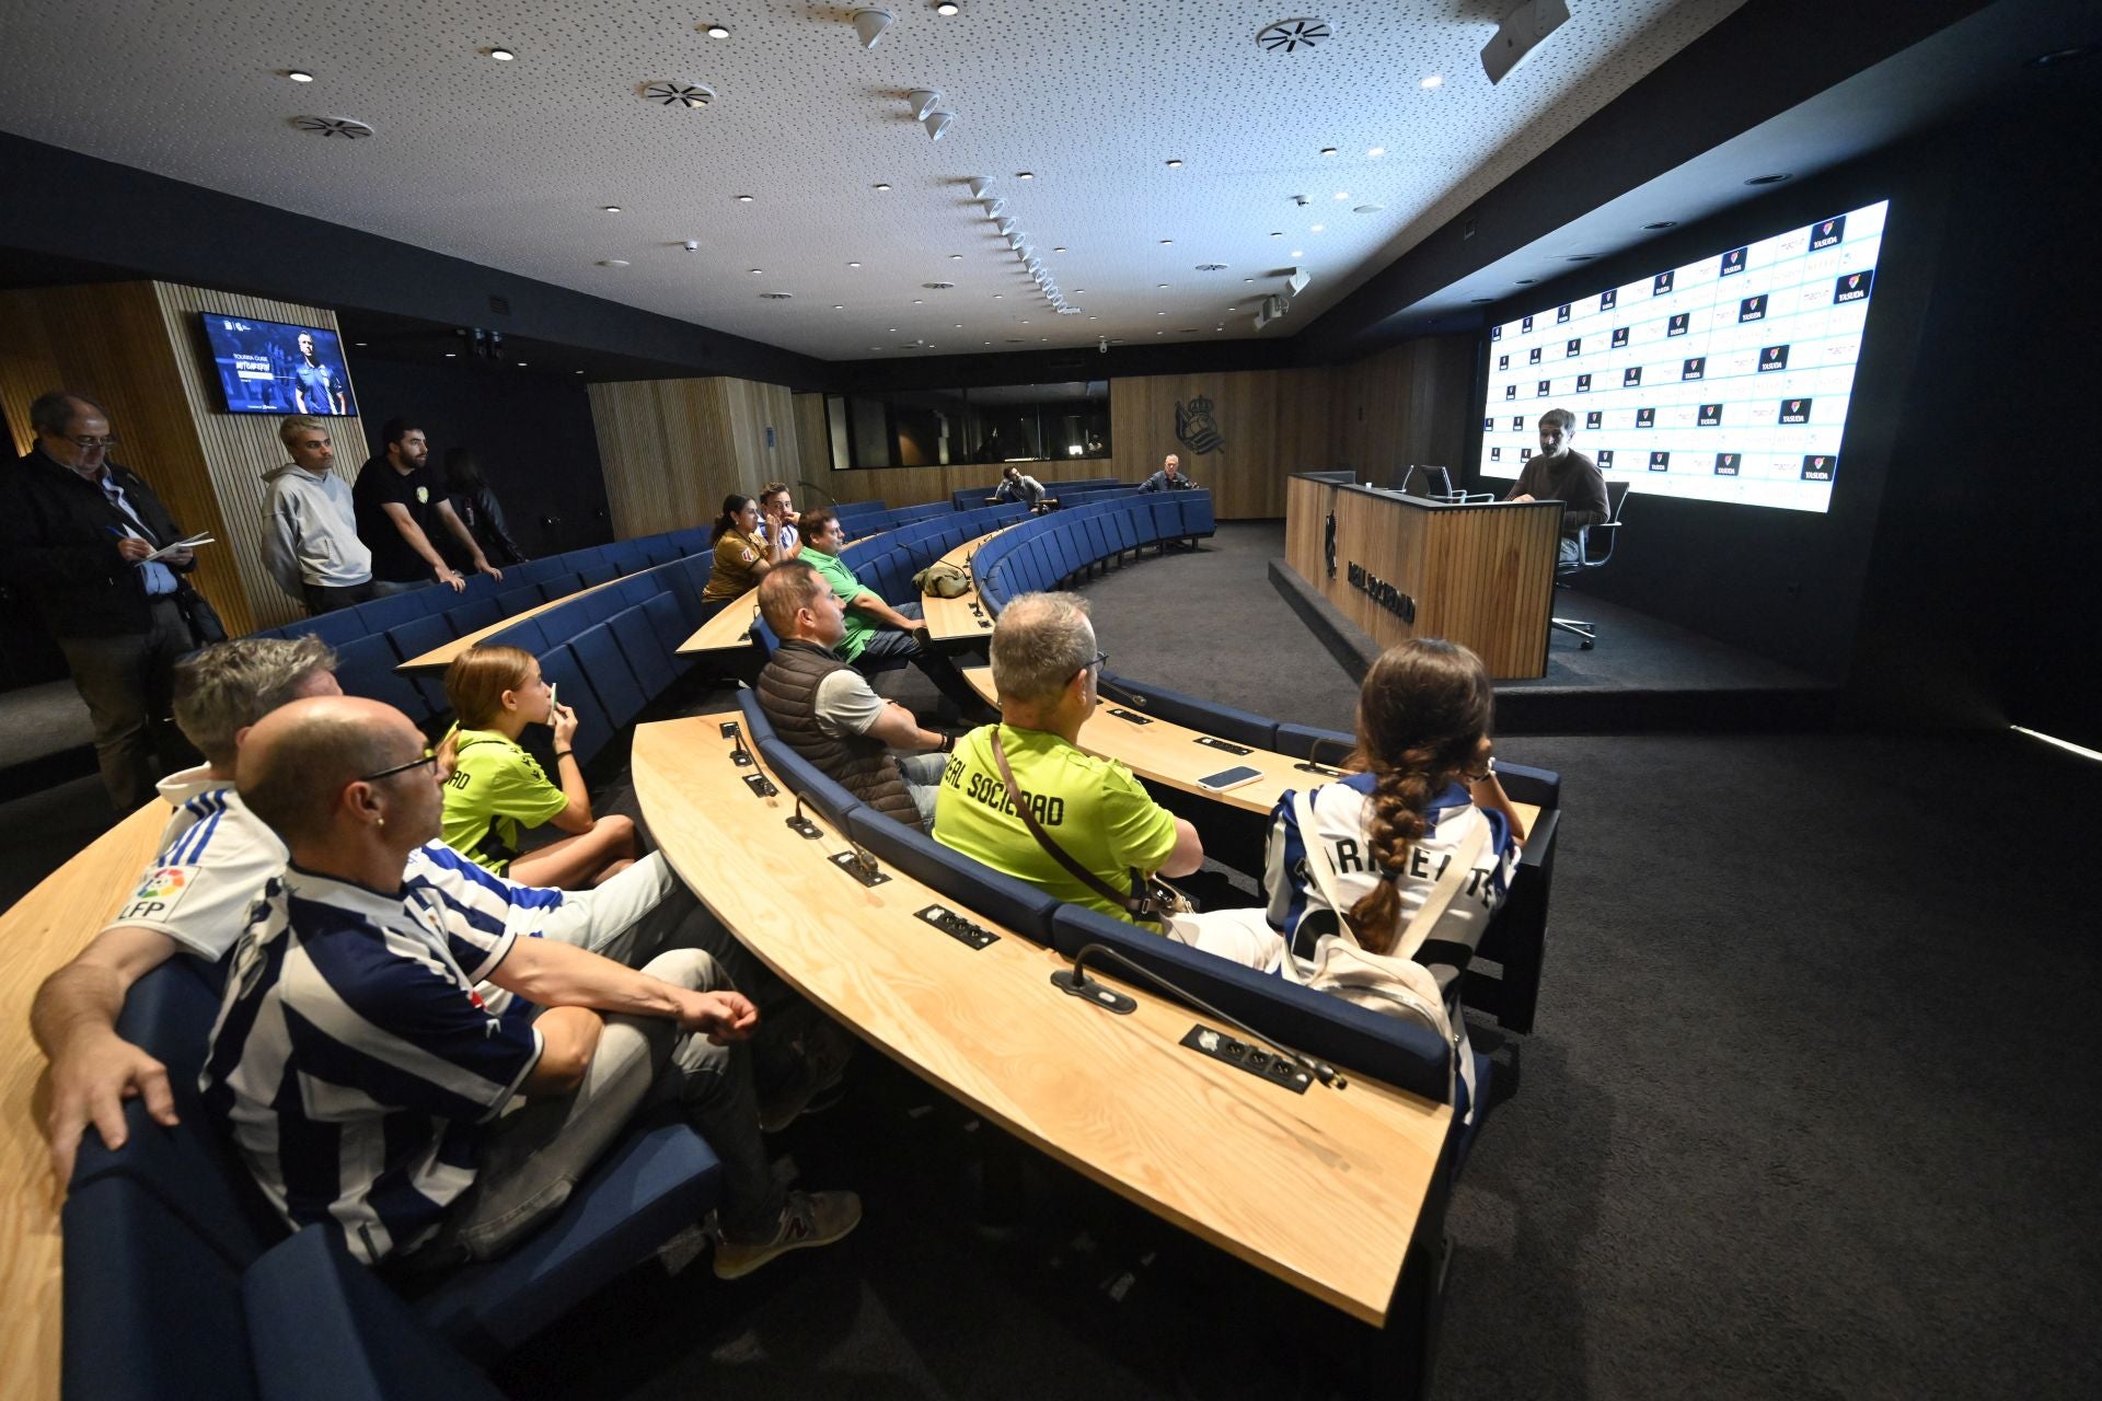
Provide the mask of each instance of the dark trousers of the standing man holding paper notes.
POLYGON ((172 594, 149 599, 145 632, 61 636, 80 699, 95 720, 95 762, 109 804, 130 813, 153 796, 153 779, 181 754, 168 714, 174 662, 195 649, 172 594))

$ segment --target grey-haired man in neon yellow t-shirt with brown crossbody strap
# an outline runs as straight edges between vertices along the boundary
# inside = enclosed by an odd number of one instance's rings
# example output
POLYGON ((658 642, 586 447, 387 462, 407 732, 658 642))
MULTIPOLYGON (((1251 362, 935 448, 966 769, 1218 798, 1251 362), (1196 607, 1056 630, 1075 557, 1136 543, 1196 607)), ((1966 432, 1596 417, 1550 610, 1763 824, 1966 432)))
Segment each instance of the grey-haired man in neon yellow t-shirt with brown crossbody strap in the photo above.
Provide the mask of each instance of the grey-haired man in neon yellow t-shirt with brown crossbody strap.
POLYGON ((1141 876, 1188 876, 1204 846, 1181 817, 1154 802, 1131 769, 1078 746, 1095 712, 1095 681, 1106 657, 1095 651, 1087 601, 1074 594, 1022 594, 992 630, 992 683, 998 725, 956 741, 935 794, 933 836, 996 872, 1070 901, 1129 920, 1045 851, 1015 813, 992 746, 998 739, 1030 813, 1053 842, 1112 891, 1141 876))

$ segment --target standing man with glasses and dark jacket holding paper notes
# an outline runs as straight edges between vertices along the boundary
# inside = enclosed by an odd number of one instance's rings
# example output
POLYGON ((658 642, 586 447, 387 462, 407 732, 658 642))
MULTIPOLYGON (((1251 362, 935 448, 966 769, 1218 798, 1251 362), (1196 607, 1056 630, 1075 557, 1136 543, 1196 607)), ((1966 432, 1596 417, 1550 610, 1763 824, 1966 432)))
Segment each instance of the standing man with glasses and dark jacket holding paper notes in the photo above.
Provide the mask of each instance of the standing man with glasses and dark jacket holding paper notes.
POLYGON ((153 796, 181 739, 166 727, 191 550, 135 473, 109 460, 103 405, 50 391, 29 405, 32 447, 0 487, 0 576, 38 611, 88 704, 103 788, 120 813, 153 796))

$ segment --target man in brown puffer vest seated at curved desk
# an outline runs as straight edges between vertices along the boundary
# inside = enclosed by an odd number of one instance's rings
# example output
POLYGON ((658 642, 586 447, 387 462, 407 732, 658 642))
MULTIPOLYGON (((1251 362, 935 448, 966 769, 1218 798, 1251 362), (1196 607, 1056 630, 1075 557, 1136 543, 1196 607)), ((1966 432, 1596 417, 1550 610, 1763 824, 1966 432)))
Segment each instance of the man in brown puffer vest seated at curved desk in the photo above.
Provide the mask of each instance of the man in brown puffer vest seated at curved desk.
POLYGON ((954 737, 921 729, 832 651, 847 634, 847 609, 809 565, 774 565, 759 582, 759 611, 782 639, 759 672, 759 708, 774 733, 885 817, 931 830, 954 737))

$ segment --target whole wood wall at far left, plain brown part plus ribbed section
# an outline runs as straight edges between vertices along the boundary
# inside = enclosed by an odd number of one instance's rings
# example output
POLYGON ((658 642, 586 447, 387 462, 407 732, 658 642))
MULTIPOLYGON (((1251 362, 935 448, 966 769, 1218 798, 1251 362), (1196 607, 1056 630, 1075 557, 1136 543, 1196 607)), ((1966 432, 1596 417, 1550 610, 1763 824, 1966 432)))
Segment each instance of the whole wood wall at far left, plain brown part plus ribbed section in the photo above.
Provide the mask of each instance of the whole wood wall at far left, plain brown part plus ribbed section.
MULTIPOLYGON (((246 632, 305 611, 269 580, 261 552, 263 471, 286 458, 277 418, 219 410, 195 311, 336 328, 320 307, 153 281, 4 292, 0 403, 17 452, 27 452, 36 395, 65 386, 101 401, 124 439, 116 460, 151 483, 177 525, 217 536, 191 578, 227 628, 246 632)), ((362 424, 341 418, 330 428, 355 466, 362 424)))

